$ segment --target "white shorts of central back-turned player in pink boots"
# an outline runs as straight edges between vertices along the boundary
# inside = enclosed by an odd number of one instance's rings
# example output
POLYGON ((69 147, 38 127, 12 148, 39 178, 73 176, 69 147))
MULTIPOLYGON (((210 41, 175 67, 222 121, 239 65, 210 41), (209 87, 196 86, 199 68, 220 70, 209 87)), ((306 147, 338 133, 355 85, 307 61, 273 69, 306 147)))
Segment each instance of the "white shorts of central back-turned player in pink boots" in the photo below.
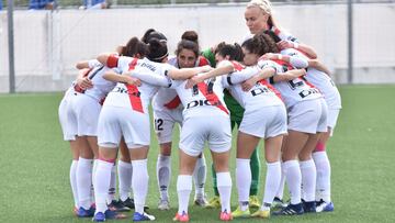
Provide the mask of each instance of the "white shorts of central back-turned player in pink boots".
POLYGON ((214 153, 230 149, 230 119, 223 114, 215 115, 215 112, 211 116, 192 116, 184 120, 180 134, 180 149, 190 156, 199 156, 206 141, 208 148, 214 153))

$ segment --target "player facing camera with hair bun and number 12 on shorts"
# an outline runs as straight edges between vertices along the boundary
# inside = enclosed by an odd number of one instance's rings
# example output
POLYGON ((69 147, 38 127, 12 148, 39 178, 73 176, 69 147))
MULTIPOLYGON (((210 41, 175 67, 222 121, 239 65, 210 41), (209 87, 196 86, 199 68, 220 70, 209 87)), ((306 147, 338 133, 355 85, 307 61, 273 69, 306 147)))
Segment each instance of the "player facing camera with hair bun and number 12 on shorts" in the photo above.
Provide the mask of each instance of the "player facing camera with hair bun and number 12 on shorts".
MULTIPOLYGON (((177 68, 190 68, 208 65, 208 62, 200 56, 198 34, 194 31, 187 31, 182 35, 176 49, 176 57, 168 62, 177 68), (187 40, 188 38, 188 40, 187 40)), ((160 192, 159 210, 169 210, 168 188, 171 178, 171 136, 174 123, 182 125, 182 110, 180 98, 174 89, 160 88, 153 100, 155 132, 157 134, 160 154, 157 160, 157 177, 160 192)), ((204 194, 206 179, 206 164, 204 155, 201 154, 193 172, 195 183, 194 203, 204 207, 207 202, 204 194)))

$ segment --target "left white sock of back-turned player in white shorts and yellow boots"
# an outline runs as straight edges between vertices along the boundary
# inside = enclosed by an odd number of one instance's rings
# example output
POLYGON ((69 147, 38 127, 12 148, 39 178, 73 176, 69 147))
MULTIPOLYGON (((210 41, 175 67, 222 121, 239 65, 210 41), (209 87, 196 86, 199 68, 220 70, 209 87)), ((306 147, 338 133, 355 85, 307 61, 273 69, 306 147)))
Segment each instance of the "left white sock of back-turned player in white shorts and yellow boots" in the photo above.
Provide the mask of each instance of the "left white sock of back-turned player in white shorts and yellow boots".
POLYGON ((240 209, 241 211, 246 211, 248 209, 251 187, 250 159, 236 158, 236 185, 240 209))

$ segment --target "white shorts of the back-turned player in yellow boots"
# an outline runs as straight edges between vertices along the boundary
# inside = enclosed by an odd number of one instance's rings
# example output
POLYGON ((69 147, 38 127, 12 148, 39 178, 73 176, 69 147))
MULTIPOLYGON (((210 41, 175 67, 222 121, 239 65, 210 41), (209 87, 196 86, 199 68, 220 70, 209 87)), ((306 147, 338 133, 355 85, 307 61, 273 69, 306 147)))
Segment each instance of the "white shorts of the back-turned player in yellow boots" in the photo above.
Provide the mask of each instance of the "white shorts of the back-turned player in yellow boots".
POLYGON ((286 134, 286 110, 284 105, 246 110, 239 131, 261 138, 286 134))

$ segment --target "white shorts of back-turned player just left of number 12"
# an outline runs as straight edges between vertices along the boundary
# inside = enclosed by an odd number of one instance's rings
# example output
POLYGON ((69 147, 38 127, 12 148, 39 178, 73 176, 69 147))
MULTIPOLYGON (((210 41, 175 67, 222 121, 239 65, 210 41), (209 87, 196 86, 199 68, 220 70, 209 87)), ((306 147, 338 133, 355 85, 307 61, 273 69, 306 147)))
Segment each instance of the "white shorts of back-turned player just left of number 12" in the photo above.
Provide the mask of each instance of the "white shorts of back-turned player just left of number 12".
POLYGON ((128 148, 149 145, 149 114, 126 108, 103 107, 98 126, 99 146, 119 147, 122 136, 128 148))

